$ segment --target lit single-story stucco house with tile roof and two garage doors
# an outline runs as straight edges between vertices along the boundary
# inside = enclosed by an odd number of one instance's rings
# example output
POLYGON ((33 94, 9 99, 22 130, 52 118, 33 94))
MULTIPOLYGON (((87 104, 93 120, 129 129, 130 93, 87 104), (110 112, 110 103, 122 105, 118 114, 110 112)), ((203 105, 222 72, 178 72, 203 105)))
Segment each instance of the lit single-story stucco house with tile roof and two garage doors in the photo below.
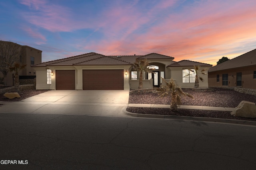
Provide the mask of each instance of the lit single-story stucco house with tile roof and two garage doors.
MULTIPOLYGON (((139 74, 132 64, 138 59, 147 59, 153 73, 143 74, 143 87, 159 87, 161 77, 171 77, 181 87, 194 87, 194 78, 182 76, 183 70, 194 64, 211 67, 210 64, 193 61, 172 61, 174 57, 150 53, 148 55, 105 56, 86 53, 74 57, 34 64, 36 89, 51 90, 130 90, 137 89, 139 74), (183 78, 184 77, 184 78, 183 78)), ((189 76, 188 76, 189 77, 189 76)), ((202 86, 208 87, 207 76, 202 86)))

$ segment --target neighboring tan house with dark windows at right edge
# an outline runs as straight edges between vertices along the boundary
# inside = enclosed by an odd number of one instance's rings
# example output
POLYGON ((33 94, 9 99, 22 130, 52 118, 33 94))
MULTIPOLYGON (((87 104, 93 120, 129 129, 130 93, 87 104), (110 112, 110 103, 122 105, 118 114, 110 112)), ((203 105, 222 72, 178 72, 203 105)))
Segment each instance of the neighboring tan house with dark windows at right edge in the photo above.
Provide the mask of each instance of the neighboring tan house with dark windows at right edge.
POLYGON ((256 89, 256 49, 209 69, 210 87, 256 89))

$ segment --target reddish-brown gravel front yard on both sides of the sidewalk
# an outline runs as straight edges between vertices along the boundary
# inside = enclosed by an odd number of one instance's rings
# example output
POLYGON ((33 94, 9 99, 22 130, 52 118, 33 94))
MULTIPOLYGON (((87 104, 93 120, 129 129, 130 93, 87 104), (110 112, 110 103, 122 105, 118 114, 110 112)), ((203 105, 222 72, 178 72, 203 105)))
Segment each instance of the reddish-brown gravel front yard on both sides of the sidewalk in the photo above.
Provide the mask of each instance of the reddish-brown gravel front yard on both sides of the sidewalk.
MULTIPOLYGON (((183 89, 194 96, 194 100, 182 96, 182 105, 188 106, 215 106, 215 107, 236 107, 242 100, 256 103, 256 96, 236 92, 234 90, 215 88, 214 92, 195 92, 190 89, 183 89)), ((129 104, 170 104, 170 97, 159 98, 156 93, 129 95, 129 104)), ((128 107, 127 111, 142 114, 176 115, 191 117, 212 117, 221 119, 238 119, 256 121, 256 118, 234 117, 230 111, 193 110, 179 109, 178 112, 168 108, 128 107)))

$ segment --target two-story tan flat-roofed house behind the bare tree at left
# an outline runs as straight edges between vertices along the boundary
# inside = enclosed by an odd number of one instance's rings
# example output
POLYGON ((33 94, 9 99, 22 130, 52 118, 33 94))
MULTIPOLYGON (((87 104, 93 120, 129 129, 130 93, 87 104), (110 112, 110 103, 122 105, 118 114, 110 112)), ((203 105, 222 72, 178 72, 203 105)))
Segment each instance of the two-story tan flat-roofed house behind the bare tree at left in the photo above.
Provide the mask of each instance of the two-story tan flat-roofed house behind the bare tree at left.
MULTIPOLYGON (((1 41, 1 43, 12 43, 9 41, 1 41)), ((42 51, 35 49, 33 47, 27 45, 19 45, 13 43, 14 45, 18 45, 20 47, 20 55, 17 57, 17 62, 22 64, 27 64, 24 70, 21 70, 19 75, 20 77, 36 77, 36 70, 31 67, 33 64, 38 64, 42 62, 42 51)), ((2 72, 0 72, 0 77, 3 77, 2 72)), ((13 86, 14 85, 14 74, 12 72, 8 72, 6 77, 6 85, 13 86)))

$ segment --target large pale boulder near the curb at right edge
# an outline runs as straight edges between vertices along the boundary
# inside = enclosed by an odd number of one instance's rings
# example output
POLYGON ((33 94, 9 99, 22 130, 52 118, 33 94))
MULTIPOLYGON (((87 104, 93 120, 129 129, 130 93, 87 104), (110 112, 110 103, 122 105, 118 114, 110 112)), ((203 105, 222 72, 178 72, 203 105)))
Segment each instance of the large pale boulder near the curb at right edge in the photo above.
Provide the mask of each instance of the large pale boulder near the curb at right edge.
POLYGON ((256 117, 256 105, 253 102, 242 101, 231 112, 231 115, 239 117, 256 117))

